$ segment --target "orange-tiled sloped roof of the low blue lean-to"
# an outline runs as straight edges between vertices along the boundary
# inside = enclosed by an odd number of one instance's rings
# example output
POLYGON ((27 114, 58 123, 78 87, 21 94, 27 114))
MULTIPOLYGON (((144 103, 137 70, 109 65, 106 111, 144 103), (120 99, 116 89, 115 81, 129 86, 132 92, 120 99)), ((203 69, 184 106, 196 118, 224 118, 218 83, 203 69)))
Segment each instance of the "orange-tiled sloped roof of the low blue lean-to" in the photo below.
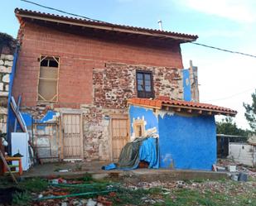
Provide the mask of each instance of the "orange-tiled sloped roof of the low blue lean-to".
POLYGON ((128 100, 129 104, 169 110, 172 108, 177 112, 185 113, 199 113, 205 115, 227 115, 235 116, 237 111, 230 108, 223 108, 219 106, 212 105, 210 103, 194 103, 186 102, 181 100, 171 100, 171 99, 148 99, 148 98, 131 98, 128 100))

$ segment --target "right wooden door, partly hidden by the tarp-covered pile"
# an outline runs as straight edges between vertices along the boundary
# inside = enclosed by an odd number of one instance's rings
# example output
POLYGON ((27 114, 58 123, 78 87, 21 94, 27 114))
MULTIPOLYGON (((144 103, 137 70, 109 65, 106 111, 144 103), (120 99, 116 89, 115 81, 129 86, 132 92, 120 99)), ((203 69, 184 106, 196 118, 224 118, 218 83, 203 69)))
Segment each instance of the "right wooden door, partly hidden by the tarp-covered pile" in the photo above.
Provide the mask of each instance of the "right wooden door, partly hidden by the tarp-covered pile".
POLYGON ((128 116, 120 115, 112 118, 112 157, 116 161, 119 158, 123 146, 128 142, 128 116))

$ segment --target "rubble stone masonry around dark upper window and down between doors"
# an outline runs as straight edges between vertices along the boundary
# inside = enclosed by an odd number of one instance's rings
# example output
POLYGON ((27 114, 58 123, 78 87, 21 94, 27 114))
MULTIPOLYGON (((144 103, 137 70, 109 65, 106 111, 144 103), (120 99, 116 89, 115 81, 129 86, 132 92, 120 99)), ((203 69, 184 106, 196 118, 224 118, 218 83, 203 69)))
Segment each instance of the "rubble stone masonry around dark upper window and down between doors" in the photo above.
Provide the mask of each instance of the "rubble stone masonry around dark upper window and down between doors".
POLYGON ((137 97, 136 70, 152 71, 155 97, 183 99, 182 69, 108 63, 94 69, 94 103, 81 105, 85 160, 111 160, 112 114, 128 114, 128 98, 137 97))

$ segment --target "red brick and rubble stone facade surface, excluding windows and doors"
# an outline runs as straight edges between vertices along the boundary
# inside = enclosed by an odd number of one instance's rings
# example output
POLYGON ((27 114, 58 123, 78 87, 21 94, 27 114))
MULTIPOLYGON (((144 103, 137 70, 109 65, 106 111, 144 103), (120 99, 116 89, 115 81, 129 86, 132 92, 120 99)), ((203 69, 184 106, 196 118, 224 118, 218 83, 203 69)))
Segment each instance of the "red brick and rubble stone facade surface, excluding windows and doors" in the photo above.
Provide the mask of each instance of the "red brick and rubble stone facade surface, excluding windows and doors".
POLYGON ((110 160, 111 115, 128 113, 127 99, 137 96, 136 70, 152 71, 155 96, 182 99, 182 61, 178 44, 108 34, 71 34, 25 23, 14 81, 22 110, 41 117, 47 109, 80 108, 86 160, 110 160), (60 57, 57 103, 38 103, 40 55, 60 57), (176 69, 178 68, 178 69, 176 69))

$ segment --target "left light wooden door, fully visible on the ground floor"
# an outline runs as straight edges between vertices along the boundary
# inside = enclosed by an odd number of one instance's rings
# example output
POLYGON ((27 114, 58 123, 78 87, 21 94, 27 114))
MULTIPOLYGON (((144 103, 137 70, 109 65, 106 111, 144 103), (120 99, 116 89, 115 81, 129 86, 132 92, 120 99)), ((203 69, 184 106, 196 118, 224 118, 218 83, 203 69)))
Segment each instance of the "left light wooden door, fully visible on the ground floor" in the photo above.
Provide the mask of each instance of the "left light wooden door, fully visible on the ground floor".
POLYGON ((80 114, 62 114, 64 159, 84 158, 81 118, 80 114))

